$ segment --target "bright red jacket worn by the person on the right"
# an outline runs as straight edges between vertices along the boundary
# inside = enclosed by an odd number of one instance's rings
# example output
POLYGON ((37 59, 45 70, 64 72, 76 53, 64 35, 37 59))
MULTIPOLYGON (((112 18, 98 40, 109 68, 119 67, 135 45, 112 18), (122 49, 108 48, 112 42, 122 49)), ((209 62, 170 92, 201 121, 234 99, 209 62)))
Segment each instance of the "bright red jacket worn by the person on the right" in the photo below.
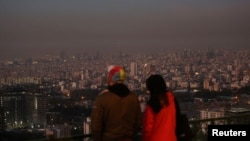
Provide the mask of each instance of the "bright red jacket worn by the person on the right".
POLYGON ((147 105, 143 119, 143 141, 176 141, 176 111, 174 97, 171 92, 167 93, 169 105, 164 106, 155 114, 147 105))

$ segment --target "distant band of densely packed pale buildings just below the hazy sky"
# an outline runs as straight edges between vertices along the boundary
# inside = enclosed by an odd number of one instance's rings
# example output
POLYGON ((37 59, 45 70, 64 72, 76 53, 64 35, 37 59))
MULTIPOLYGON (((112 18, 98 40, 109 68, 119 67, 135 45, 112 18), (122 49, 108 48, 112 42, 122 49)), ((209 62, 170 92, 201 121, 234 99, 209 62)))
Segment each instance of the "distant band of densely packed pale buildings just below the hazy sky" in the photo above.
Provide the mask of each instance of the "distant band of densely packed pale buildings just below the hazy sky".
POLYGON ((171 89, 238 89, 250 83, 250 51, 183 50, 180 53, 89 56, 44 56, 0 62, 0 86, 42 84, 45 81, 68 93, 106 85, 108 65, 123 65, 131 89, 145 89, 145 79, 162 74, 171 89))

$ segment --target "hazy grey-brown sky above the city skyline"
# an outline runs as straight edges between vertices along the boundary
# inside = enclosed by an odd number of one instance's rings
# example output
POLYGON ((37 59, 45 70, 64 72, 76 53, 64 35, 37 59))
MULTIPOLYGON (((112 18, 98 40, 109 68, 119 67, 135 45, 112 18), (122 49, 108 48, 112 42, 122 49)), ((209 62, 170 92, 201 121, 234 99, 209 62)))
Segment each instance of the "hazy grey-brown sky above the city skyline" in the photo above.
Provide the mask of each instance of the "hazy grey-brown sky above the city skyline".
POLYGON ((0 57, 250 48, 249 0, 0 0, 0 57))

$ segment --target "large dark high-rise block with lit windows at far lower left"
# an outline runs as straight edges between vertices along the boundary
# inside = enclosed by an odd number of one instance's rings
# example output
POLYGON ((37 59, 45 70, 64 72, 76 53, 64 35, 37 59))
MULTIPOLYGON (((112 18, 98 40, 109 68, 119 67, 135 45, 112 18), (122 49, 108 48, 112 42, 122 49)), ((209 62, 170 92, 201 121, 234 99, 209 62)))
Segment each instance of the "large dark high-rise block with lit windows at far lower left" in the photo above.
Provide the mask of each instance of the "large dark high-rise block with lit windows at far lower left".
POLYGON ((0 101, 0 126, 3 126, 2 128, 19 128, 31 124, 39 128, 45 125, 47 112, 45 95, 4 92, 0 96, 0 101))

